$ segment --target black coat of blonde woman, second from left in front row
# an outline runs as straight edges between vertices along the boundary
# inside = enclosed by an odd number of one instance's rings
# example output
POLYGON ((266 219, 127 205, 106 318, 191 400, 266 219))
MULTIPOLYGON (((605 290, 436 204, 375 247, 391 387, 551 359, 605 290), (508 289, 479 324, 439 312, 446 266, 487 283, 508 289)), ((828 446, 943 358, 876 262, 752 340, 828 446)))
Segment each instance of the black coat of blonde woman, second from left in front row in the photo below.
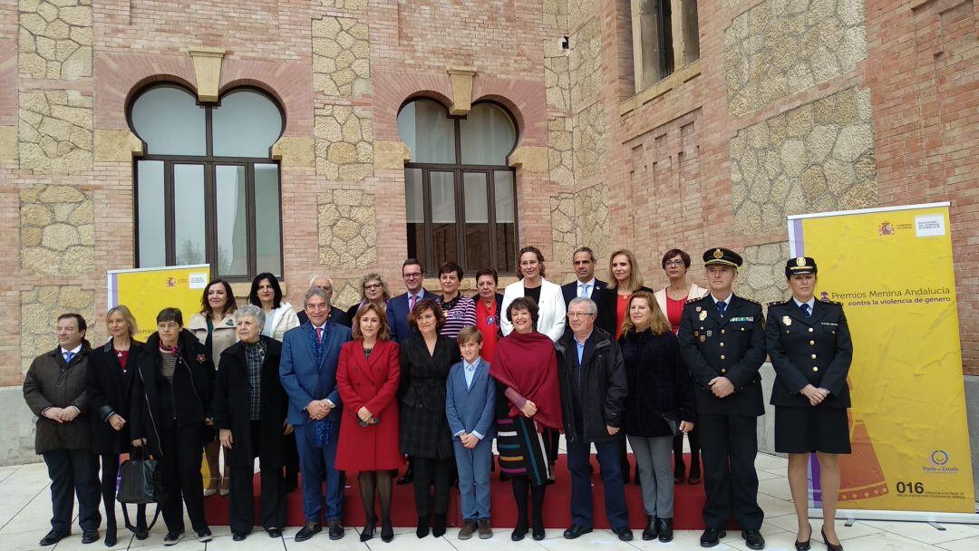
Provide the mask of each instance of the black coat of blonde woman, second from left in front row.
POLYGON ((88 356, 88 373, 85 376, 85 394, 92 408, 92 452, 96 455, 125 453, 131 447, 129 437, 130 399, 135 381, 137 359, 143 353, 143 343, 129 344, 129 358, 125 371, 113 341, 94 348, 88 356), (109 424, 109 416, 117 413, 125 420, 121 431, 109 424))

